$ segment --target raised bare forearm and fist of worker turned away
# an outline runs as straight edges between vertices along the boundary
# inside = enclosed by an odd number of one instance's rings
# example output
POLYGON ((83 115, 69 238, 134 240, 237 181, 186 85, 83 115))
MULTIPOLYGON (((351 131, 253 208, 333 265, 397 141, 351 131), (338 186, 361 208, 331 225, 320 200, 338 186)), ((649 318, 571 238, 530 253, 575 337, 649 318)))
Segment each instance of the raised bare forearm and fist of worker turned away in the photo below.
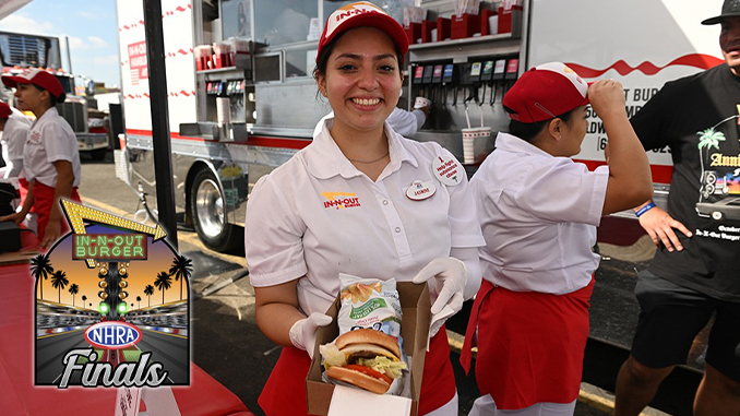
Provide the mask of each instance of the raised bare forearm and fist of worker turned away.
POLYGON ((624 91, 613 80, 588 87, 588 98, 609 138, 609 179, 602 215, 629 210, 653 198, 647 155, 624 110, 624 91))

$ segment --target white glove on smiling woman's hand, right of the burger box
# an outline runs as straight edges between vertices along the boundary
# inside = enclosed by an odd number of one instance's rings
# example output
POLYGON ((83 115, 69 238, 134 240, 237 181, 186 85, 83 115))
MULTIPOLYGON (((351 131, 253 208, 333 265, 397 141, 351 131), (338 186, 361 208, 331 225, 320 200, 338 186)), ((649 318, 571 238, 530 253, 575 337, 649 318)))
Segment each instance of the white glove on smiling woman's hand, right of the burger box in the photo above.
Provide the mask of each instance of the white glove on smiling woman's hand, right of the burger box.
POLYGON ((434 281, 429 284, 439 295, 431 307, 430 337, 437 335, 447 318, 463 309, 467 268, 463 261, 452 257, 434 259, 414 276, 414 283, 425 283, 432 277, 434 281))

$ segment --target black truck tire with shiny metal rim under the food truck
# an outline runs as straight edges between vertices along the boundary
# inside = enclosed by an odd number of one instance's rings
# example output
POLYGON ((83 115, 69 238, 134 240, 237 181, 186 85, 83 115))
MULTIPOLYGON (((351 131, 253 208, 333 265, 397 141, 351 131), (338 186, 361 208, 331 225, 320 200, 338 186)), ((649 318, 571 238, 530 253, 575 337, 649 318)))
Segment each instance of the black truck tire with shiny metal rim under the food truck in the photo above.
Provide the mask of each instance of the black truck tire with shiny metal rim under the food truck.
POLYGON ((219 252, 243 243, 242 228, 226 221, 224 200, 214 174, 201 169, 190 189, 190 212, 198 237, 205 247, 219 252))

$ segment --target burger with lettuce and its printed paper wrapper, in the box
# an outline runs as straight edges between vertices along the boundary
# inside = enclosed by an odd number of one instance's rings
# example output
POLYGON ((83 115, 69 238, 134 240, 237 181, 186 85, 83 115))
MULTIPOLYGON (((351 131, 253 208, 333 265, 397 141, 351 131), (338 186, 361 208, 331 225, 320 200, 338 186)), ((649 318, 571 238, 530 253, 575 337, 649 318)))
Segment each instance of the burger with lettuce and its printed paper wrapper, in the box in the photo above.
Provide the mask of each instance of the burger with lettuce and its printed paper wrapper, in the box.
POLYGON ((401 337, 402 309, 396 281, 339 274, 339 336, 319 347, 322 379, 378 394, 410 397, 409 358, 401 337))

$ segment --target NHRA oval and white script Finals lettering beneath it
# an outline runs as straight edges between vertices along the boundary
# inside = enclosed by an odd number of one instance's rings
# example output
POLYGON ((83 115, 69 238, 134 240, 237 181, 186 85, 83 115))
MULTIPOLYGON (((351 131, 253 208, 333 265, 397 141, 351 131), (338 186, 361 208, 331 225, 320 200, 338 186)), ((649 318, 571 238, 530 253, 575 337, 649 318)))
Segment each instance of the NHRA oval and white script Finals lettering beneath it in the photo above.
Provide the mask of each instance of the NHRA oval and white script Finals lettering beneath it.
MULTIPOLYGON (((116 350, 116 354, 122 354, 121 349, 135 345, 141 338, 141 330, 127 322, 99 322, 85 330, 87 343, 95 348, 116 350)), ((67 389, 75 372, 80 373, 81 384, 87 388, 157 387, 167 379, 167 371, 163 371, 163 364, 150 362, 151 357, 151 352, 143 353, 138 361, 120 362, 114 368, 111 362, 97 362, 98 353, 93 348, 71 349, 62 359, 64 372, 59 388, 67 389)))

